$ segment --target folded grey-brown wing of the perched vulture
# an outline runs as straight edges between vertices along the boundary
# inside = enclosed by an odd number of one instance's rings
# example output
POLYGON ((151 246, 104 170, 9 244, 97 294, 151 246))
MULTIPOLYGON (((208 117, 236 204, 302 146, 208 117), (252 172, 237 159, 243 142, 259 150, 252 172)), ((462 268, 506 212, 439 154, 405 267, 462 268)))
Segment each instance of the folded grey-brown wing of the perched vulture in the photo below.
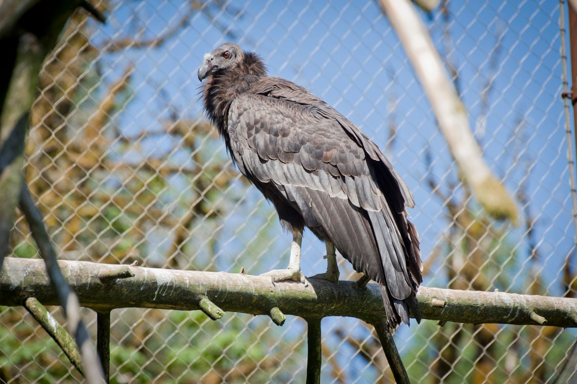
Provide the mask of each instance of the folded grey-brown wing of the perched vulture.
POLYGON ((413 196, 379 148, 328 104, 279 78, 233 101, 228 129, 241 172, 386 287, 385 307, 392 301, 398 313, 388 313, 389 324, 408 322, 403 301, 414 298, 421 279, 404 216, 413 196))

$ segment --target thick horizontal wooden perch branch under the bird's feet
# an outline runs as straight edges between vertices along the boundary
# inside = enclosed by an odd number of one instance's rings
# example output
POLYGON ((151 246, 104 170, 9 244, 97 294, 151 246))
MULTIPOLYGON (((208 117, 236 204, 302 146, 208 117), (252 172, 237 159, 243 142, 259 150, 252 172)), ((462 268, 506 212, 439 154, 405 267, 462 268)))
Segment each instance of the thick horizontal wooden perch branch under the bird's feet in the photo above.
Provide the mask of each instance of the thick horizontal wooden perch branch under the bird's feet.
MULTIPOLYGON (((370 324, 385 318, 377 284, 359 288, 354 282, 333 284, 310 279, 308 286, 240 273, 197 272, 128 267, 133 277, 102 280, 102 269, 126 265, 58 261, 80 304, 98 311, 123 307, 199 310, 203 298, 223 311, 270 315, 278 307, 284 314, 306 319, 325 316, 355 317, 370 324)), ((118 273, 124 276, 125 272, 118 273)), ((28 297, 44 305, 58 298, 42 260, 7 257, 0 275, 0 305, 23 305, 28 297)), ((577 327, 577 299, 504 292, 460 291, 420 287, 417 300, 425 319, 472 324, 539 325, 577 327)))

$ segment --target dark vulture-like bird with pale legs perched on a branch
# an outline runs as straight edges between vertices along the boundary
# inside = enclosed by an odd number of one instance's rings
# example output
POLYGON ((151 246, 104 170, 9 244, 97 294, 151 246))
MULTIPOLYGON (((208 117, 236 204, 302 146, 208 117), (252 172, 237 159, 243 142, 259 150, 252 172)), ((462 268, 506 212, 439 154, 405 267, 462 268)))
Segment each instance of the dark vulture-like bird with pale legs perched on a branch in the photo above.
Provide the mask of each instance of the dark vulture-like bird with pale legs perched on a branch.
POLYGON ((197 75, 233 163, 293 237, 288 267, 264 275, 304 282, 306 227, 327 250, 327 272, 313 277, 338 282, 336 249, 364 274, 359 284, 379 284, 389 329, 409 324, 410 312, 419 322, 421 252, 406 210, 414 198, 379 147, 309 90, 269 77, 263 59, 237 44, 205 54, 197 75))

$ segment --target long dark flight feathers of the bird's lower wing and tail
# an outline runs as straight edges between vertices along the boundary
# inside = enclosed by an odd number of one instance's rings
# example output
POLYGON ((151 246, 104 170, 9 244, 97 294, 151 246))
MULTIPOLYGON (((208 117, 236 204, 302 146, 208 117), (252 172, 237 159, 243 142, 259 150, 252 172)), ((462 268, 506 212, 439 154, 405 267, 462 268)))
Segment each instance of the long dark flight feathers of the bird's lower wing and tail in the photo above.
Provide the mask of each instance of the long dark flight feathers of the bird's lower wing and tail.
POLYGON ((328 199, 323 191, 306 187, 293 187, 291 192, 297 203, 309 201, 299 208, 310 211, 313 220, 303 216, 313 233, 333 242, 355 270, 380 284, 389 328, 409 324, 410 313, 419 322, 415 298, 422 281, 419 240, 404 212, 392 214, 384 201, 381 211, 364 210, 350 200, 328 199))

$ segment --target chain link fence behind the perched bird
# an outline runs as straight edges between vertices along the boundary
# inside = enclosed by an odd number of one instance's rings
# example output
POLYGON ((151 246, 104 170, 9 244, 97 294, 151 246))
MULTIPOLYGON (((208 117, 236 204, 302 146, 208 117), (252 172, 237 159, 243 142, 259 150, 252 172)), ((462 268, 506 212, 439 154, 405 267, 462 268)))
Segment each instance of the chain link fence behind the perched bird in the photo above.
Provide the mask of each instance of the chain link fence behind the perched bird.
MULTIPOLYGON (((269 74, 312 90, 362 128, 412 189, 424 285, 575 296, 563 77, 563 4, 449 2, 422 13, 469 113, 484 158, 515 197, 499 222, 462 183, 429 101, 378 4, 101 1, 77 12, 44 66, 26 177, 59 256, 69 260, 258 274, 286 265, 290 236, 233 168, 203 117, 197 67, 225 41, 269 74)), ((574 188, 574 187, 573 187, 574 188)), ((13 256, 38 257, 23 220, 13 256)), ((305 234, 305 275, 325 250, 305 234)), ((342 261, 342 260, 341 260, 342 261)), ((341 277, 352 278, 346 261, 341 277)), ((63 321, 61 311, 51 312, 63 321)), ((95 333, 95 315, 84 310, 95 333)), ((323 320, 323 383, 391 382, 372 328, 323 320)), ((111 382, 304 382, 306 324, 289 317, 114 310, 111 382)), ((414 321, 395 340, 413 382, 554 382, 574 330, 414 321)), ((0 381, 81 376, 33 318, 0 307, 0 381)))

